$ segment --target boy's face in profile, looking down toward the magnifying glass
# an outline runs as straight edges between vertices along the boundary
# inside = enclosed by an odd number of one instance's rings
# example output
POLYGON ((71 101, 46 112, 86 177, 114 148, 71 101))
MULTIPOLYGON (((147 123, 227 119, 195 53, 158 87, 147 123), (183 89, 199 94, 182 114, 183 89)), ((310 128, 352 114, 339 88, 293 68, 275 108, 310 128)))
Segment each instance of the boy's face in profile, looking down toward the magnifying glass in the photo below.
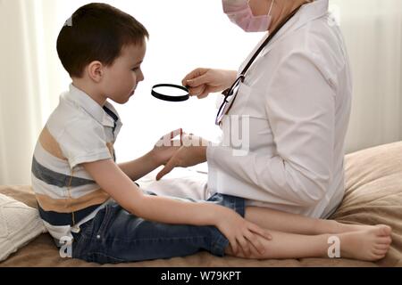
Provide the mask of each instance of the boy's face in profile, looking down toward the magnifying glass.
POLYGON ((147 51, 147 44, 126 45, 113 65, 105 68, 102 91, 107 98, 120 104, 129 101, 138 82, 144 80, 141 63, 147 51))

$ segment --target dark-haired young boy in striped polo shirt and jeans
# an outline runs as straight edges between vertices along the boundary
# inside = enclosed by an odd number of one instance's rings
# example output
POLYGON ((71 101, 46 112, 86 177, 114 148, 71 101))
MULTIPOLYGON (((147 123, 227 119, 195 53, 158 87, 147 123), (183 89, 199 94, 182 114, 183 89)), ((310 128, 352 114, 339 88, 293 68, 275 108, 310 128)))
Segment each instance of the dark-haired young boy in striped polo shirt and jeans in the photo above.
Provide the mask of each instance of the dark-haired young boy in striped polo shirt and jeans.
MULTIPOLYGON (((73 239, 72 257, 118 263, 187 256, 201 249, 252 258, 328 256, 333 235, 341 242, 342 256, 385 256, 390 243, 385 225, 339 224, 245 208, 244 199, 222 194, 194 203, 141 191, 133 181, 186 150, 155 147, 140 159, 115 163, 113 143, 121 119, 107 99, 128 102, 144 79, 140 65, 147 37, 137 20, 107 4, 81 7, 58 37, 57 51, 72 84, 39 136, 32 186, 56 242, 73 239)), ((177 134, 180 130, 168 135, 177 134)))

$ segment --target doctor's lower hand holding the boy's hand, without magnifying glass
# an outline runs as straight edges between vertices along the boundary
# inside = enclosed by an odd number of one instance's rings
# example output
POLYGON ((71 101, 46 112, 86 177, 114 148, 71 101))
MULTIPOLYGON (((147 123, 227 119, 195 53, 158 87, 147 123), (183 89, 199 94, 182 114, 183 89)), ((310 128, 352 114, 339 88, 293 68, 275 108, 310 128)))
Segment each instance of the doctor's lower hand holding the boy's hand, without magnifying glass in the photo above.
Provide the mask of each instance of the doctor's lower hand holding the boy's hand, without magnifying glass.
POLYGON ((160 180, 164 175, 172 171, 174 167, 193 167, 206 161, 206 147, 210 142, 193 134, 181 136, 181 147, 156 175, 160 180))

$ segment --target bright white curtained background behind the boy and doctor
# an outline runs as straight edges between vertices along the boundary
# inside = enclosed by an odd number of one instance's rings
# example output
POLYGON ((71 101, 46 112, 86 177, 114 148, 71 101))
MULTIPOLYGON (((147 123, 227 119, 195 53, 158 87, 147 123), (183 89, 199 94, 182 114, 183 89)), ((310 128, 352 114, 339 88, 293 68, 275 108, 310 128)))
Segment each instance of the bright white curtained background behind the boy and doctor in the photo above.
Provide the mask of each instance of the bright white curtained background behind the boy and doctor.
MULTIPOLYGON (((75 0, 0 0, 0 184, 30 182, 30 162, 46 118, 70 78, 55 50, 75 0)), ((149 150, 183 127, 214 139, 215 96, 179 104, 158 102, 150 89, 177 83, 198 66, 237 69, 261 34, 245 34, 222 13, 220 0, 105 1, 129 12, 151 34, 146 80, 124 106, 116 144, 119 161, 149 150)), ((347 152, 402 140, 402 1, 331 0, 352 63, 355 91, 347 152)))

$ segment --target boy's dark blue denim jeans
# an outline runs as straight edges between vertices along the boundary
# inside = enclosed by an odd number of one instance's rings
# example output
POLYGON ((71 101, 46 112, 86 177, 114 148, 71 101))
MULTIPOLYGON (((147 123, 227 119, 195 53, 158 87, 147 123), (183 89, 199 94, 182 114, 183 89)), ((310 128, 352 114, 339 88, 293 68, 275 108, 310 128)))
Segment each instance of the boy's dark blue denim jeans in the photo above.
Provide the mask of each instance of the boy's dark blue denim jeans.
MULTIPOLYGON (((207 201, 245 215, 244 199, 217 193, 207 201)), ((229 245, 214 226, 150 222, 115 202, 80 229, 80 233, 73 233, 72 256, 99 264, 188 256, 200 250, 224 256, 229 245)))

